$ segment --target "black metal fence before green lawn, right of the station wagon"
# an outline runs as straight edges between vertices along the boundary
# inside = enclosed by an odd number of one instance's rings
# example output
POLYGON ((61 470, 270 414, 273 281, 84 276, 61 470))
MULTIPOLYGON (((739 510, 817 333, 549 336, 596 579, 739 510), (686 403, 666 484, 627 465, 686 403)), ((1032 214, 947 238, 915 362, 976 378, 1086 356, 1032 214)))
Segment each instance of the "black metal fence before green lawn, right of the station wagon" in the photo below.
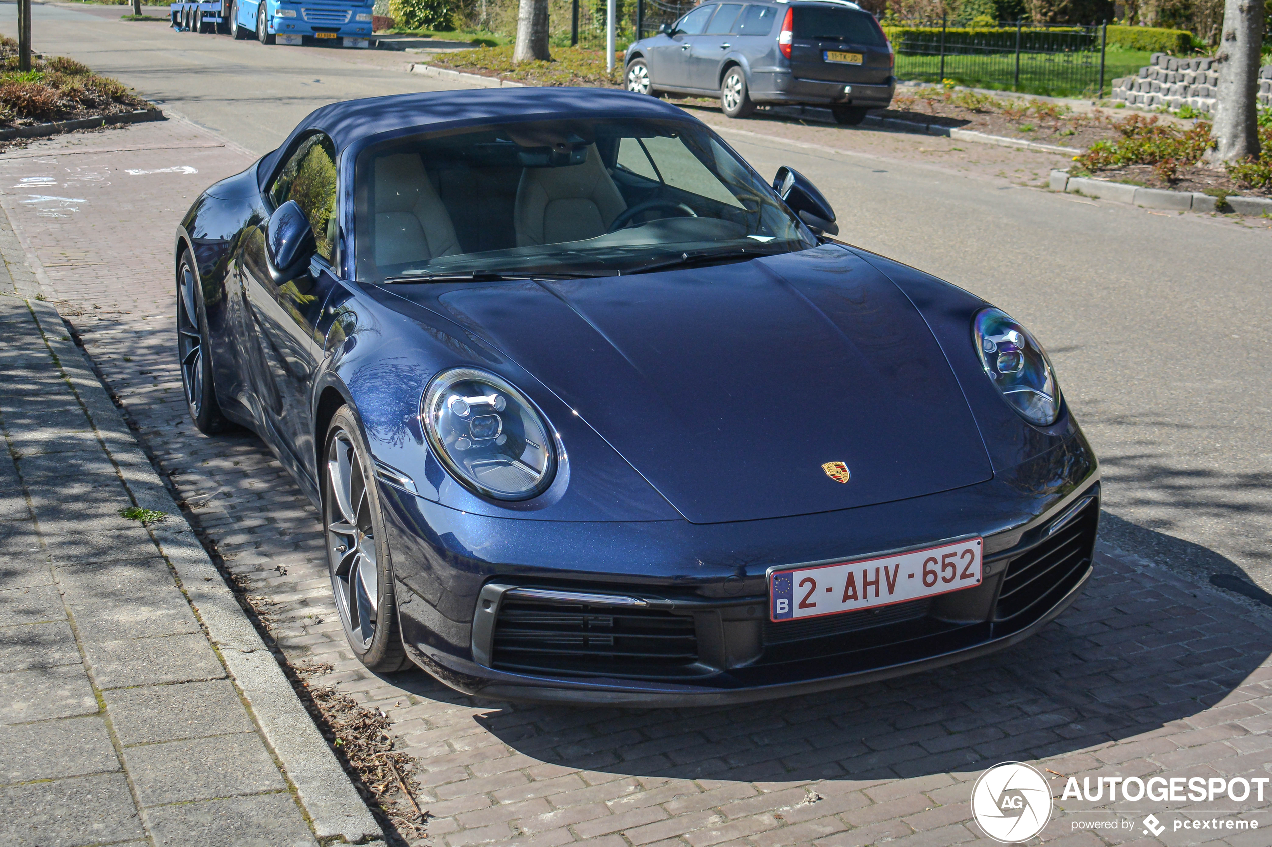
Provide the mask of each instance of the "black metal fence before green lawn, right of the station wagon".
POLYGON ((1000 23, 967 27, 949 19, 889 22, 897 76, 1054 94, 1103 94, 1104 25, 1000 23))

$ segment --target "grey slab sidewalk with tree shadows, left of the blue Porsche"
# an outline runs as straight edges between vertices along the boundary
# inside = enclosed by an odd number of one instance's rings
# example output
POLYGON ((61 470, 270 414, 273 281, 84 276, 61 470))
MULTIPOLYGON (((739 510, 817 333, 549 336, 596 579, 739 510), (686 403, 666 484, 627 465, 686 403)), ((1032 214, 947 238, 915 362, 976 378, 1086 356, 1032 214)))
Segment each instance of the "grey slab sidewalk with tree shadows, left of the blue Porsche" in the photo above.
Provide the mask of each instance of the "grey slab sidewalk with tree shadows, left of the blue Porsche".
POLYGON ((273 664, 179 514, 121 514, 176 508, 4 218, 0 253, 0 843, 317 844, 329 796, 280 770, 298 748, 271 719, 329 753, 277 667, 240 655, 273 664))

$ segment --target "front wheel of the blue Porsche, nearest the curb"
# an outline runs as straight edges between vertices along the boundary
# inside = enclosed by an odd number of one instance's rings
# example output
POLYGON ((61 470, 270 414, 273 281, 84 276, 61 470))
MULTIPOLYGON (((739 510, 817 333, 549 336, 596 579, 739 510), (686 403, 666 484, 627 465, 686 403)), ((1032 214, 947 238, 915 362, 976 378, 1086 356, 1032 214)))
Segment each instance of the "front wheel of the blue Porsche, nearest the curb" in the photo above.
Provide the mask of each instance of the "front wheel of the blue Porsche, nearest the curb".
POLYGON ((370 453, 352 410, 336 410, 323 439, 322 524, 332 597, 345 639, 373 673, 411 664, 398 626, 393 566, 370 453))

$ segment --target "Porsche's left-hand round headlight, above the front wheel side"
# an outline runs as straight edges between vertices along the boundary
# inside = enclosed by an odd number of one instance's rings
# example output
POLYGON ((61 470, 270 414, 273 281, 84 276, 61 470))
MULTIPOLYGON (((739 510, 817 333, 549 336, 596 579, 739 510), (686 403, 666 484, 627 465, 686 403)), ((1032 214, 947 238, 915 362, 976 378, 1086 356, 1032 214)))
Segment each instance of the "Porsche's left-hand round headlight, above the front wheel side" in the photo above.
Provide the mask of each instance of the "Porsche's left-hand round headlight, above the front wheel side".
POLYGON ((439 373, 424 392, 420 415, 434 455, 477 494, 524 500, 552 484, 556 452, 547 423, 494 373, 439 373))

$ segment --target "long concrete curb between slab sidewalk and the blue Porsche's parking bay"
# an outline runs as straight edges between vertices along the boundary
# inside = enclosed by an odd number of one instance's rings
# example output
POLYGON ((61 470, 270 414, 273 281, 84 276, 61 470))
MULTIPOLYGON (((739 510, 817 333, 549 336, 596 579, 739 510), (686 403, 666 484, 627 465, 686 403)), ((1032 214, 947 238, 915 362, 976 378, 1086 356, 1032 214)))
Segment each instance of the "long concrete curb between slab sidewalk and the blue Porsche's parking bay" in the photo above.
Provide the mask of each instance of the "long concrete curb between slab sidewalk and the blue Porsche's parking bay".
MULTIPOLYGON (((6 215, 8 212, 5 208, 6 215)), ((19 237, 27 263, 48 297, 51 292, 43 267, 11 215, 9 221, 14 225, 13 230, 19 237)), ((150 527, 151 537, 177 571, 209 640, 248 701, 261 733, 295 786, 314 834, 319 842, 383 842, 384 834, 375 818, 327 747, 233 590, 195 537, 181 508, 137 444, 84 352, 74 342, 61 340, 65 333, 61 315, 51 302, 33 296, 27 302, 137 505, 170 516, 165 522, 150 527)))

